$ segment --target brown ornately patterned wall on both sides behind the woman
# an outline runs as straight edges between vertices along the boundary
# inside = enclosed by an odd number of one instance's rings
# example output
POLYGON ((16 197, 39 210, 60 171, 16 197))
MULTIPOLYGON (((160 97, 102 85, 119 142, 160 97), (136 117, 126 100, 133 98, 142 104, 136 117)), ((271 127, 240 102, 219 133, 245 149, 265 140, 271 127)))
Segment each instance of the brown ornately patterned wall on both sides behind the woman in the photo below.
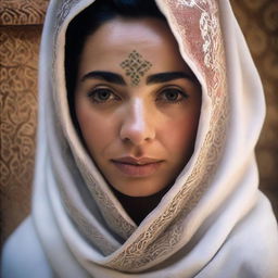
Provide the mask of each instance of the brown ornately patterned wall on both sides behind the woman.
MULTIPOLYGON (((261 188, 278 216, 278 1, 231 3, 266 92, 267 116, 256 154, 261 188)), ((47 5, 48 0, 0 2, 0 248, 30 210, 37 61, 47 5)))

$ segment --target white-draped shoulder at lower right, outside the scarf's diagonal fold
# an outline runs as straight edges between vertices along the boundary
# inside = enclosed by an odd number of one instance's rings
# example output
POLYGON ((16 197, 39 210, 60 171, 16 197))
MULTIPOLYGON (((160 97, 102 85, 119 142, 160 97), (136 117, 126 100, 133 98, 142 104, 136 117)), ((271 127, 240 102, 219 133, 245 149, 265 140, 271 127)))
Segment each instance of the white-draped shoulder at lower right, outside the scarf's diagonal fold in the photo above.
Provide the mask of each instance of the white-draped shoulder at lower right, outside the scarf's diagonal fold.
POLYGON ((269 201, 262 194, 228 235, 198 278, 277 278, 278 229, 269 201))

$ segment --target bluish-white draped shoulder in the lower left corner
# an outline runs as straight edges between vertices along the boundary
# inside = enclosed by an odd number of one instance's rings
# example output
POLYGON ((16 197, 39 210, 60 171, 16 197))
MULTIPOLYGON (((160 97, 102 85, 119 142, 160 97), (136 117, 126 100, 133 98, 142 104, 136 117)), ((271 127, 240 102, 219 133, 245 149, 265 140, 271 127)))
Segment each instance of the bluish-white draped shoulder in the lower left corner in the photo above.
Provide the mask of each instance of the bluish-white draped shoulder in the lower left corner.
POLYGON ((53 277, 31 218, 26 218, 3 247, 1 277, 53 277))

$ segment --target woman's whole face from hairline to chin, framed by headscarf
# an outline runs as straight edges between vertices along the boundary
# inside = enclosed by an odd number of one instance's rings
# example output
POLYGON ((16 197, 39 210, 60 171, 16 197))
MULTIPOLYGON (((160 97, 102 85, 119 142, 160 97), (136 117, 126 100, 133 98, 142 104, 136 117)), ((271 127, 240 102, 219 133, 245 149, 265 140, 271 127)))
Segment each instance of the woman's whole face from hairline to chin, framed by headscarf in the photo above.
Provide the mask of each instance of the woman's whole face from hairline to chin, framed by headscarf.
POLYGON ((75 109, 93 161, 112 187, 151 195, 192 155, 201 88, 160 20, 115 18, 85 42, 75 109))

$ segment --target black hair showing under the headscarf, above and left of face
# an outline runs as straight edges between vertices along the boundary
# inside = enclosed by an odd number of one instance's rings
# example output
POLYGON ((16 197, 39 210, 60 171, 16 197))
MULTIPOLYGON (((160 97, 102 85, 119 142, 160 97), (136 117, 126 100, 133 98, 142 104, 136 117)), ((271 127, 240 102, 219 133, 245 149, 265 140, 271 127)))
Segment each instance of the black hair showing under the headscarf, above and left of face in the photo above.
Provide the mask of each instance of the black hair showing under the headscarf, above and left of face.
POLYGON ((116 16, 127 18, 156 17, 165 21, 154 0, 97 0, 70 23, 65 43, 65 78, 70 111, 77 128, 74 91, 80 53, 87 37, 103 23, 116 16))

